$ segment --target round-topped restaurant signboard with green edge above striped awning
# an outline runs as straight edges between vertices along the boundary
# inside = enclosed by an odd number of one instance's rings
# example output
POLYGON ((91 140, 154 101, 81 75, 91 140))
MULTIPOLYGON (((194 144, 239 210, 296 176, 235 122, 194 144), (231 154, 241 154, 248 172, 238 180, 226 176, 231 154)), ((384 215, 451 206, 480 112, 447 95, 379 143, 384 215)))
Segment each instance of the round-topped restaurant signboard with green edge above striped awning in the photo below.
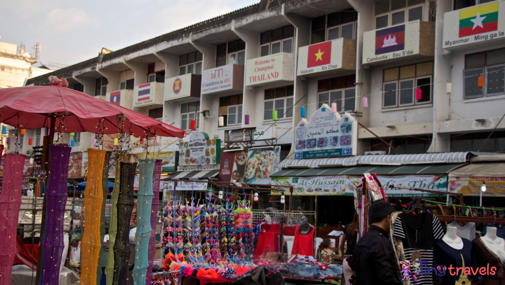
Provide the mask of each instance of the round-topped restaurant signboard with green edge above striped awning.
POLYGON ((194 133, 179 143, 179 165, 219 164, 221 140, 206 133, 194 133))

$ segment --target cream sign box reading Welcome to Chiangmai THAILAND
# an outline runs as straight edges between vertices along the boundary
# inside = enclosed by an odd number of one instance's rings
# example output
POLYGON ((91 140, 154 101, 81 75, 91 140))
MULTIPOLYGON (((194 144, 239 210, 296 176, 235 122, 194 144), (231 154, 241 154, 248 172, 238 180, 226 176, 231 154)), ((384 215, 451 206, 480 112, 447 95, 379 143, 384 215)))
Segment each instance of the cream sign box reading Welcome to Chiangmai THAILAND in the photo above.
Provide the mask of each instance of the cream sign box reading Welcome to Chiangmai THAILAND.
POLYGON ((276 81, 293 81, 294 54, 279 52, 247 61, 245 86, 276 81))

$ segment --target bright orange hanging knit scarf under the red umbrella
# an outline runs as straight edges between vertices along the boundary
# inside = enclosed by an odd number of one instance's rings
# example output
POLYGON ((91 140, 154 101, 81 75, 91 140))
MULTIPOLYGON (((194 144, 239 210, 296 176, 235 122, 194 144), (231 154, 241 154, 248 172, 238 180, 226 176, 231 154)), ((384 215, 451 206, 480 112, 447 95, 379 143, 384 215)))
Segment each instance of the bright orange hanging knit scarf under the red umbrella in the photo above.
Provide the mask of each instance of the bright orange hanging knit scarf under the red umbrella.
POLYGON ((96 264, 100 253, 100 214, 102 214, 102 176, 107 151, 88 148, 88 177, 84 189, 84 233, 81 242, 81 285, 96 284, 96 264))

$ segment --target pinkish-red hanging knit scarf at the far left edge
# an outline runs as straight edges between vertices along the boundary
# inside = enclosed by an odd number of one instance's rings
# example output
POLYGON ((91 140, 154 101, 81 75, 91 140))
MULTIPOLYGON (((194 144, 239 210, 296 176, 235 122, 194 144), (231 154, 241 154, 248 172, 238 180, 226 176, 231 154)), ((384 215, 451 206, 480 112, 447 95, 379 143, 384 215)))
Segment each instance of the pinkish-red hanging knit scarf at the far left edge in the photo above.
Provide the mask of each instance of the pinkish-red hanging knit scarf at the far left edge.
POLYGON ((7 153, 4 156, 4 179, 0 195, 0 285, 11 284, 12 263, 16 256, 16 231, 21 187, 23 184, 24 154, 7 153))

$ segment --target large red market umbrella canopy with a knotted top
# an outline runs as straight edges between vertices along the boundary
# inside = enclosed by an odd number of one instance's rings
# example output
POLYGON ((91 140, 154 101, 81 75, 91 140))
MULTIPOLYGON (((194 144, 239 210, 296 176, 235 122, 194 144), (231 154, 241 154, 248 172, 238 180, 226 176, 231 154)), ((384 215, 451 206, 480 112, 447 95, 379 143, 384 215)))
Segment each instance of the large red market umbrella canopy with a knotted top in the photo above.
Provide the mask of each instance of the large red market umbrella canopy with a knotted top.
POLYGON ((49 76, 49 81, 51 86, 0 89, 0 122, 32 130, 48 128, 51 121, 57 128, 61 118, 66 133, 97 133, 98 123, 104 120, 100 123, 104 134, 117 134, 122 125, 119 119, 124 119, 123 131, 135 137, 183 138, 187 135, 156 119, 69 89, 65 78, 49 76))

